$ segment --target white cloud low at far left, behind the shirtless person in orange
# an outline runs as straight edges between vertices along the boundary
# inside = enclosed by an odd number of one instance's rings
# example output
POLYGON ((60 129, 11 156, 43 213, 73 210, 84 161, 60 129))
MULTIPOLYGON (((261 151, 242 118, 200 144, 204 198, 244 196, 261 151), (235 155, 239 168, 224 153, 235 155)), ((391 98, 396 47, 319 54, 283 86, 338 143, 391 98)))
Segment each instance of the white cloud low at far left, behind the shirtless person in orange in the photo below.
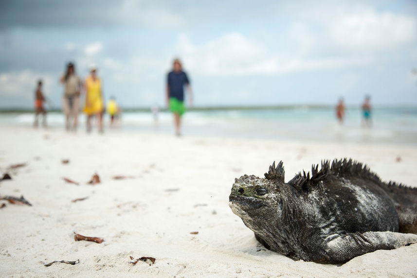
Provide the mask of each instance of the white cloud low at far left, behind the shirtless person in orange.
POLYGON ((3 72, 0 74, 0 96, 26 96, 33 97, 36 83, 42 79, 44 91, 50 94, 49 89, 53 83, 50 73, 22 70, 19 72, 3 72))

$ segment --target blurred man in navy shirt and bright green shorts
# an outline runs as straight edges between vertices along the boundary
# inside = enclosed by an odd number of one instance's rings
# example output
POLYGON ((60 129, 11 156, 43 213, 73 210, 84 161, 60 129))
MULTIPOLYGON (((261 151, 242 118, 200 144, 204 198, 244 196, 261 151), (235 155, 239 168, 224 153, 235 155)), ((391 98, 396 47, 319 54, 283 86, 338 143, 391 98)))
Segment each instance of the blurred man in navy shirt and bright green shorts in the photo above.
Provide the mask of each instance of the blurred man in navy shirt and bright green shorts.
POLYGON ((190 81, 187 74, 182 71, 181 62, 175 59, 173 69, 168 73, 166 84, 166 104, 169 110, 174 114, 175 134, 181 135, 181 116, 185 112, 184 105, 184 86, 190 95, 190 105, 193 104, 193 95, 190 81))

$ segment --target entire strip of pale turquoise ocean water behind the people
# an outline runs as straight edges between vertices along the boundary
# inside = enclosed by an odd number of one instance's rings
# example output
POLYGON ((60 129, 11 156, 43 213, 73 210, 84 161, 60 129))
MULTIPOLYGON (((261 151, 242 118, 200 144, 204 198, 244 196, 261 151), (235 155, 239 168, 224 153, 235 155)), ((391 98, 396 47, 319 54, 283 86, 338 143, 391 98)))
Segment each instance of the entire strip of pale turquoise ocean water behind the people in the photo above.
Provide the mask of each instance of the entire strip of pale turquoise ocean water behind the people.
MULTIPOLYGON (((32 113, 0 113, 0 125, 31 127, 33 120, 32 113)), ((80 115, 79 122, 80 129, 85 129, 84 115, 80 115)), ((185 136, 417 144, 417 107, 375 108, 371 128, 361 125, 360 109, 347 109, 344 123, 339 124, 333 108, 307 106, 189 111, 182 122, 185 136)), ((105 128, 108 124, 106 116, 105 128)), ((64 116, 49 113, 48 125, 63 128, 64 116)), ((160 112, 156 123, 150 112, 125 112, 118 128, 127 132, 173 133, 173 119, 170 113, 160 112)))

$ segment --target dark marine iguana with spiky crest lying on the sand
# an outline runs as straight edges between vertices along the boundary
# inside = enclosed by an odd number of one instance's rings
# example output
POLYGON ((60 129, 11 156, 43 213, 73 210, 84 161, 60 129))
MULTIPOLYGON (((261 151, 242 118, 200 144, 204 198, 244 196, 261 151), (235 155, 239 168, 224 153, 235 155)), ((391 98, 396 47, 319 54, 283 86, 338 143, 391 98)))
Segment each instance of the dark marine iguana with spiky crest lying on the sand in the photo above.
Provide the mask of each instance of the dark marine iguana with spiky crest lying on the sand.
POLYGON ((344 263, 417 243, 417 188, 382 182, 360 162, 322 161, 284 182, 282 161, 265 178, 235 179, 229 206, 266 248, 292 259, 344 263))

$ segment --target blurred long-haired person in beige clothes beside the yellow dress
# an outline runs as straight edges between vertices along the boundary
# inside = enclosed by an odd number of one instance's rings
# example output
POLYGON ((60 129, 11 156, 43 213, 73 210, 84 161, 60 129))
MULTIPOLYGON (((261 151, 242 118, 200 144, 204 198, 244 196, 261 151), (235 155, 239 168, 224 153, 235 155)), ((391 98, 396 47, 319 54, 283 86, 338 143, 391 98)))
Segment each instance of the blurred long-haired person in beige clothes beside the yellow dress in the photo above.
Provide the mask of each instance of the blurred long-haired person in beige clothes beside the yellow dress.
POLYGON ((77 130, 78 110, 80 104, 81 79, 75 74, 75 66, 73 63, 67 64, 67 70, 60 78, 60 82, 64 85, 64 97, 62 98, 62 112, 65 114, 65 129, 67 131, 77 130), (71 128, 70 120, 73 118, 73 127, 71 128))

